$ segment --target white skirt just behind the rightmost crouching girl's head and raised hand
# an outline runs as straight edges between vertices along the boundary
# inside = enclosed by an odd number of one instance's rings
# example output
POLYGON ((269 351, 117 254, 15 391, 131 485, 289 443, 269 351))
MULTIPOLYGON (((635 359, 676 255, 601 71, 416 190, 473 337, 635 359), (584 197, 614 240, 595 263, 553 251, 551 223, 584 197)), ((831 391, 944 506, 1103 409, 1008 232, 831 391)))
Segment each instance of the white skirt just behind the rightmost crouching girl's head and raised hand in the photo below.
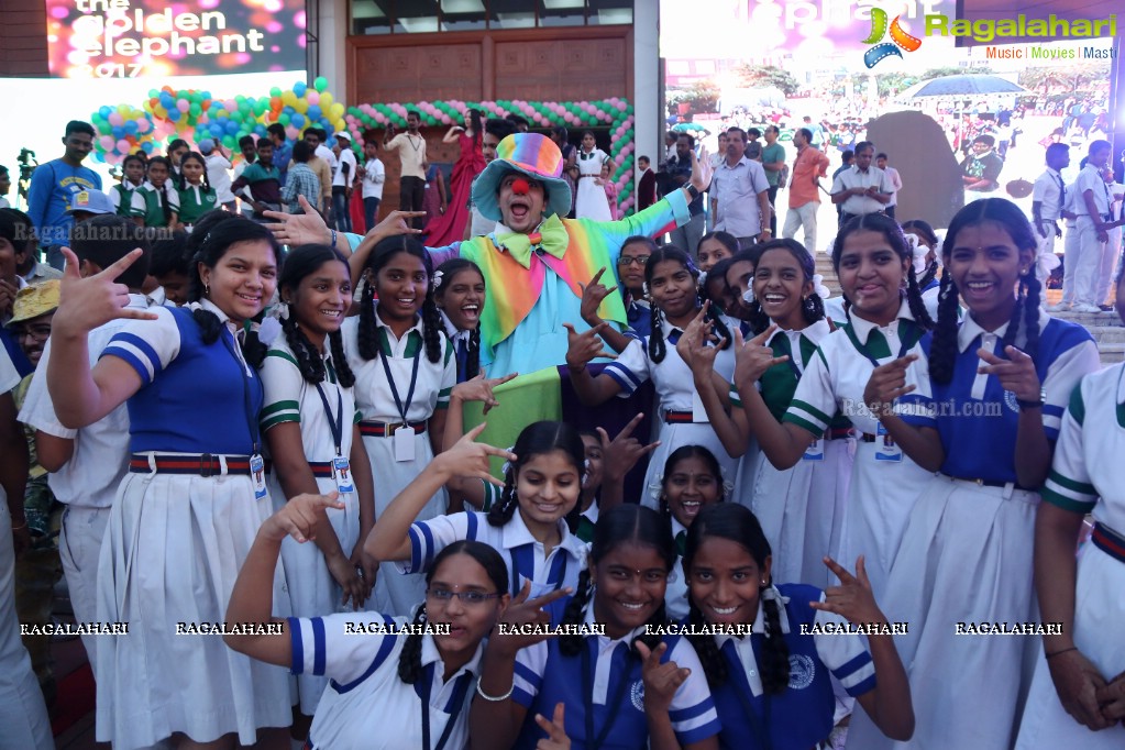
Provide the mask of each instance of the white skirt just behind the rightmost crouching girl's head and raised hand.
POLYGON ((821 444, 822 461, 801 460, 785 470, 775 468, 762 453, 750 509, 773 551, 773 579, 824 589, 836 585, 825 566, 826 554, 849 570, 855 564, 855 560, 837 557, 855 441, 826 440, 821 444))

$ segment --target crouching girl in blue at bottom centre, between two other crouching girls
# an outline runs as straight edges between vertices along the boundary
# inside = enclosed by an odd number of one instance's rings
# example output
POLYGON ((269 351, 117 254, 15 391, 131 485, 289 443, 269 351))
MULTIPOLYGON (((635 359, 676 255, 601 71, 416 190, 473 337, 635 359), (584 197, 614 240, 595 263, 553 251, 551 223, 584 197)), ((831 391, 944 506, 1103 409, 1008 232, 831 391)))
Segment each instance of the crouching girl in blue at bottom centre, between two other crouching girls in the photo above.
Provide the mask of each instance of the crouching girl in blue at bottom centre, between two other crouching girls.
POLYGON ((649 633, 667 625, 665 586, 676 551, 667 522, 649 508, 619 505, 594 530, 590 567, 574 596, 530 622, 604 626, 604 635, 511 635, 488 640, 474 741, 485 748, 537 747, 542 721, 566 705, 574 748, 717 748, 719 722, 699 658, 683 638, 649 633))

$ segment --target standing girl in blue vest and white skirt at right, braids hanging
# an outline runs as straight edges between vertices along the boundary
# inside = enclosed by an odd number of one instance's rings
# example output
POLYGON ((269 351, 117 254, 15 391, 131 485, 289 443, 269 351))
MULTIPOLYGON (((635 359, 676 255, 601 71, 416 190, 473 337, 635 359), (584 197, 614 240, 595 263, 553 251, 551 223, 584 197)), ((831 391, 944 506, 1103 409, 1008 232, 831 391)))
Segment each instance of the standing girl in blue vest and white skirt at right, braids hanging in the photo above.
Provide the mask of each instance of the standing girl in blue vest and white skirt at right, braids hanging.
POLYGON ((921 352, 930 382, 903 377, 911 354, 876 369, 864 392, 902 449, 940 472, 922 488, 886 585, 891 615, 910 623, 899 648, 911 665, 918 748, 1011 747, 1025 665, 1041 648, 1035 636, 955 634, 958 621, 1040 620, 1030 576, 1038 490, 1065 404, 1099 368, 1084 328, 1040 310, 1036 244, 1007 200, 957 211, 942 247, 937 329, 921 352), (958 297, 969 309, 960 324, 958 297), (889 408, 894 399, 901 415, 889 408))

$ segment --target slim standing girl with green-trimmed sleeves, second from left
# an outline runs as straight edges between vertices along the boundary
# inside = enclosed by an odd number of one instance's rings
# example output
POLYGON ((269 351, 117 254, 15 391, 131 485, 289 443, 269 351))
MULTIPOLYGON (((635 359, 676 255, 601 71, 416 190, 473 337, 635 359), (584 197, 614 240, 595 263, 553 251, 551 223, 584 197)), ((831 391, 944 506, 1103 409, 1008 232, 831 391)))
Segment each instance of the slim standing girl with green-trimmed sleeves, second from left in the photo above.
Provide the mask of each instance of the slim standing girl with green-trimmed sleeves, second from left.
MULTIPOLYGON (((190 154, 182 170, 190 169, 190 154)), ((327 245, 303 245, 286 257, 278 280, 281 329, 262 363, 266 398, 261 425, 273 459, 276 508, 303 493, 340 491, 343 510, 330 509, 316 544, 281 545, 290 611, 299 617, 360 608, 377 566, 363 557, 375 523, 371 467, 359 434, 340 325, 351 304, 348 261, 327 245)), ((327 680, 300 675, 294 735, 304 740, 327 680), (304 721, 302 721, 304 716, 304 721)))

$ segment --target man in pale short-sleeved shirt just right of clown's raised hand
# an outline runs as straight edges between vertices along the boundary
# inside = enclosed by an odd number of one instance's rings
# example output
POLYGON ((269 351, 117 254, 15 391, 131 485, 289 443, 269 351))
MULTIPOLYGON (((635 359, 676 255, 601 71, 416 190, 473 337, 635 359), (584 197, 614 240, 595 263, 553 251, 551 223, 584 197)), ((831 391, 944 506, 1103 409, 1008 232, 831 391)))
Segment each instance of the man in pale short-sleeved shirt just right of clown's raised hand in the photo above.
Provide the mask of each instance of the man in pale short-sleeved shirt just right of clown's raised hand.
POLYGON ((742 128, 727 130, 727 159, 711 178, 710 189, 714 229, 738 237, 740 250, 772 236, 770 180, 762 164, 746 156, 746 143, 742 128))

